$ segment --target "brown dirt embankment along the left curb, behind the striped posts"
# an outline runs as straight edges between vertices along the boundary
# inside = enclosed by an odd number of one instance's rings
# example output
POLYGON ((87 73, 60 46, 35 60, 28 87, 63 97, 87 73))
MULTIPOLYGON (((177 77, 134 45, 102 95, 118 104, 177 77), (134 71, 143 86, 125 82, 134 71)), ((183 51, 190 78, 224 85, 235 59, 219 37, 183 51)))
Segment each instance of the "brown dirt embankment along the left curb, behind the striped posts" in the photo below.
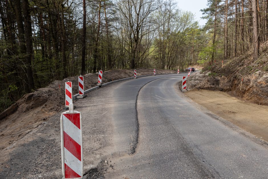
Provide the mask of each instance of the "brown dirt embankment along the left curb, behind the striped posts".
MULTIPOLYGON (((133 70, 109 70, 103 72, 103 83, 133 77, 133 70)), ((157 74, 176 73, 173 70, 156 69, 157 74)), ((137 69, 137 75, 153 74, 153 69, 137 69)), ((54 81, 48 87, 25 94, 15 104, 0 114, 0 150, 19 140, 38 127, 43 121, 64 107, 64 83, 72 81, 73 95, 78 93, 78 77, 54 81)), ((84 75, 84 88, 95 87, 98 73, 84 75)))

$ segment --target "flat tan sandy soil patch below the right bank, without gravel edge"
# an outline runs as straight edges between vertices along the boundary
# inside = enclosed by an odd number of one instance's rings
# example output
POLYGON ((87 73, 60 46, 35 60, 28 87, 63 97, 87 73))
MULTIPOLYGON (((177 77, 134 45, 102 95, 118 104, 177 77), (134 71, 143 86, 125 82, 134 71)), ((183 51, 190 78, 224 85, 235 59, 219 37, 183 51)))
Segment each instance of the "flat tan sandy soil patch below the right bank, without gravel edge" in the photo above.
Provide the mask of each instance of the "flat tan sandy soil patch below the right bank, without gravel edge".
POLYGON ((268 106, 245 102, 221 91, 190 90, 184 94, 214 114, 268 142, 268 106))

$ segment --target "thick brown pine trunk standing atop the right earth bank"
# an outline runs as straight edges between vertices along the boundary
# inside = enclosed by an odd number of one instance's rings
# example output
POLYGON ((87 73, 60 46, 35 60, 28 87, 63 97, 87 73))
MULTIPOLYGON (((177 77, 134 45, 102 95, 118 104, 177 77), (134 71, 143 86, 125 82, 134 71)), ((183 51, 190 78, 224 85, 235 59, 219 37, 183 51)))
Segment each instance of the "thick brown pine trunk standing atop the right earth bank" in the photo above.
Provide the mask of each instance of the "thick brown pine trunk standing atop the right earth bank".
POLYGON ((257 11, 257 0, 252 0, 252 21, 253 21, 253 58, 257 60, 259 57, 259 26, 258 26, 258 11, 257 11))

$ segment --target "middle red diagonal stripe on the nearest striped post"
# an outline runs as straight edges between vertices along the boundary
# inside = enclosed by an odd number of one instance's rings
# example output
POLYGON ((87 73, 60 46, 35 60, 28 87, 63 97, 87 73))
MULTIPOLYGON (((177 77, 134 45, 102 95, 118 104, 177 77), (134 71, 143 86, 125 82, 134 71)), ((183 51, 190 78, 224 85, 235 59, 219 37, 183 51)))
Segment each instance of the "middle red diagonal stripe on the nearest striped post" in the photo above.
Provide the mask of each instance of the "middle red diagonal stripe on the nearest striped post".
POLYGON ((81 146, 63 131, 64 147, 81 161, 81 146))

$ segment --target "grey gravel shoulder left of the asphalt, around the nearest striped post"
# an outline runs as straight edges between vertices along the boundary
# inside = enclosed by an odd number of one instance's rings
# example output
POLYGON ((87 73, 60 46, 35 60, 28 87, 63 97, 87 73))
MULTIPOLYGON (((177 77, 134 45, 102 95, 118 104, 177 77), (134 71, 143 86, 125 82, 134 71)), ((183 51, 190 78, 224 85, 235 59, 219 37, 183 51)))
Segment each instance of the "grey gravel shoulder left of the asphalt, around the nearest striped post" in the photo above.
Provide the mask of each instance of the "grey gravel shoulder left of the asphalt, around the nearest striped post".
MULTIPOLYGON (((113 152, 112 85, 88 94, 75 103, 82 114, 84 172, 88 178, 103 178, 104 156, 113 152)), ((62 178, 60 111, 1 151, 0 178, 62 178)))

